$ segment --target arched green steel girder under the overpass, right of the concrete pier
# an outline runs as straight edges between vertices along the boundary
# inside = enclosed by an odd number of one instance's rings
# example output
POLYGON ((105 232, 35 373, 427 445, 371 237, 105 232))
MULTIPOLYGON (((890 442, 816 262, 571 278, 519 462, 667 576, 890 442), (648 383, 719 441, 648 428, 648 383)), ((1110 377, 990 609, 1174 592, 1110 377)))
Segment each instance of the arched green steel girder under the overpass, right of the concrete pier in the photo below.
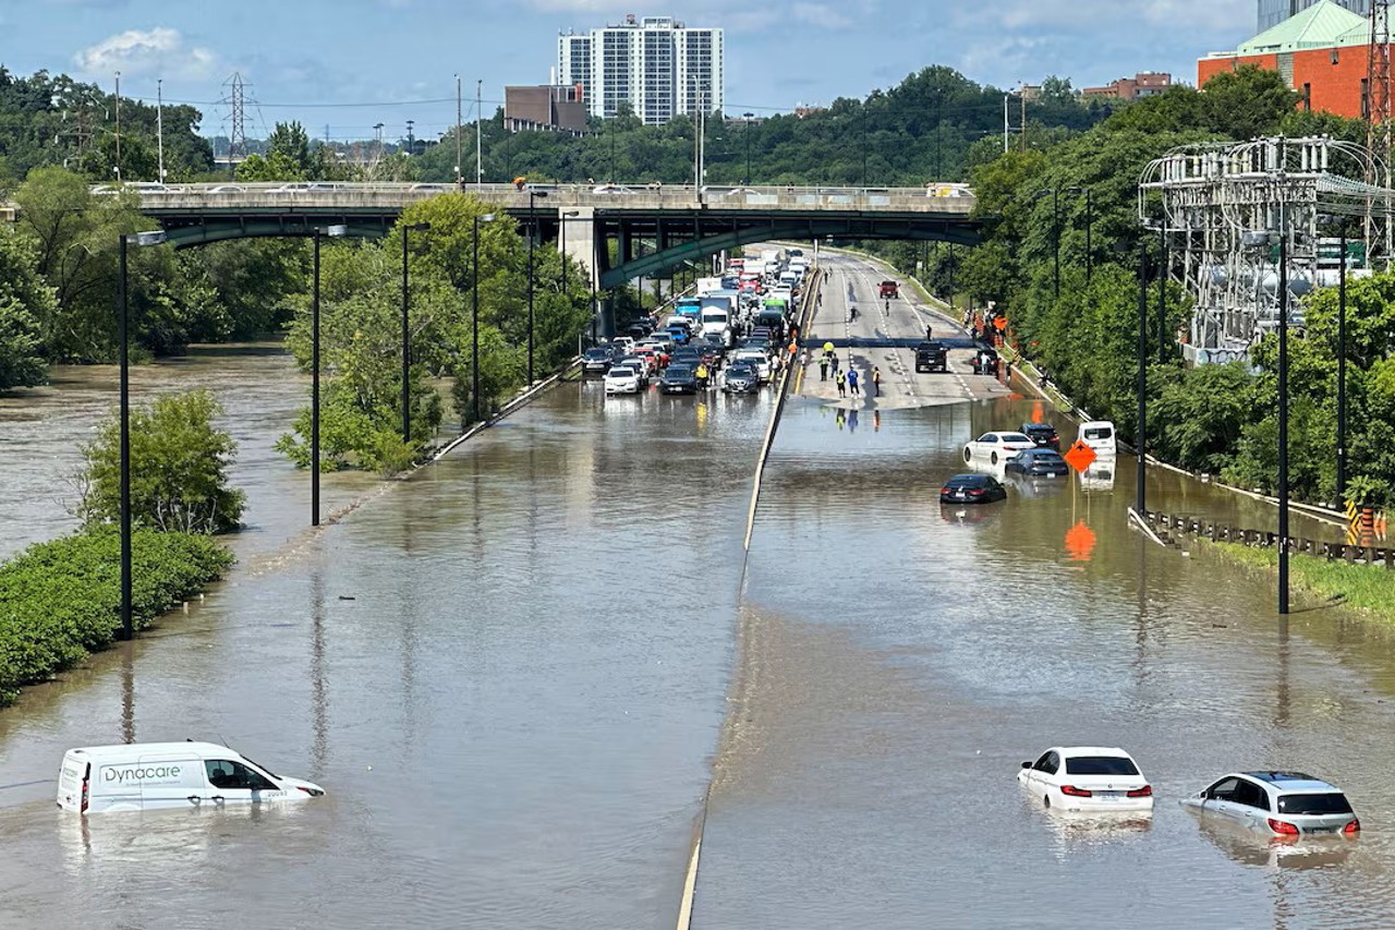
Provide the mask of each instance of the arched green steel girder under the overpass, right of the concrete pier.
POLYGON ((785 222, 755 223, 738 229, 725 229, 711 236, 686 239, 667 249, 631 258, 600 274, 601 289, 619 288, 635 278, 663 276, 682 261, 693 261, 714 256, 723 250, 737 249, 752 242, 810 239, 914 239, 921 242, 947 242, 958 246, 976 246, 981 236, 976 223, 946 222, 936 219, 926 223, 907 223, 904 219, 848 222, 845 218, 820 221, 791 219, 785 222))

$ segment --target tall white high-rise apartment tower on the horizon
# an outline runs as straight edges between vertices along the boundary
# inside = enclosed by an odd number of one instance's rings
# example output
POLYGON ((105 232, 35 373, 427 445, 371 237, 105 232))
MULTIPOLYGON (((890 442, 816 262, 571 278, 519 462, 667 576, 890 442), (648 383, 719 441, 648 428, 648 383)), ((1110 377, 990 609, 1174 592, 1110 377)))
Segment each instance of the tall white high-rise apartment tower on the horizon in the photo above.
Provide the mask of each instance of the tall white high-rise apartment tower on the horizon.
POLYGON ((670 17, 633 15, 621 25, 557 39, 558 80, 579 84, 591 116, 628 103, 649 124, 723 108, 721 29, 689 29, 670 17))

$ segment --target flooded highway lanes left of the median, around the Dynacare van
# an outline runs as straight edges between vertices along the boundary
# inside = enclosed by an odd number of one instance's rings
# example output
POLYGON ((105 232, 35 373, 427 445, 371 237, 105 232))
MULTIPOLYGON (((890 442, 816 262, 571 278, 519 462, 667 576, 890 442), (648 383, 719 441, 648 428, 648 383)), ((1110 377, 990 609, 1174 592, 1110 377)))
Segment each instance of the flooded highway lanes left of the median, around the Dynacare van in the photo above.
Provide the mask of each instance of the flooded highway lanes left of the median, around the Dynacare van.
POLYGON ((672 926, 769 404, 562 385, 0 714, 0 926, 672 926), (64 748, 225 739, 329 789, 60 814, 64 748))

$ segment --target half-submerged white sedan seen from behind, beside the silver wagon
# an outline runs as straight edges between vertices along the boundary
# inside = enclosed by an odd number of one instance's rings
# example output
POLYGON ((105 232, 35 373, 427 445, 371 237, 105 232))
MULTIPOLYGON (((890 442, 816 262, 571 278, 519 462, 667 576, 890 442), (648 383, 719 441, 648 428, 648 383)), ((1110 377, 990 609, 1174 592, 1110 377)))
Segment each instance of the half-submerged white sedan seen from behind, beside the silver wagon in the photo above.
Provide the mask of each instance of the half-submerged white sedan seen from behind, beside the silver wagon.
POLYGON ((1152 786, 1133 757, 1105 746, 1053 746, 1017 772, 1046 807, 1084 811, 1151 811, 1152 786))

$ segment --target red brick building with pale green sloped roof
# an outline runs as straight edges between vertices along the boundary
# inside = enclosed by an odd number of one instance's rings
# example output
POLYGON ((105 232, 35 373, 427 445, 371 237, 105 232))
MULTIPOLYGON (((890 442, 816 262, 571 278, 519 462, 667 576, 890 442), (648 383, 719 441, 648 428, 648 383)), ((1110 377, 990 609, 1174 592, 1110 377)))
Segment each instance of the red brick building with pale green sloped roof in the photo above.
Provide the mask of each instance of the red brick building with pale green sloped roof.
POLYGON ((1300 108, 1362 119, 1370 106, 1370 31, 1366 17, 1318 0, 1235 52, 1212 52, 1197 61, 1197 87, 1205 88, 1222 71, 1253 64, 1278 71, 1303 95, 1300 108))

